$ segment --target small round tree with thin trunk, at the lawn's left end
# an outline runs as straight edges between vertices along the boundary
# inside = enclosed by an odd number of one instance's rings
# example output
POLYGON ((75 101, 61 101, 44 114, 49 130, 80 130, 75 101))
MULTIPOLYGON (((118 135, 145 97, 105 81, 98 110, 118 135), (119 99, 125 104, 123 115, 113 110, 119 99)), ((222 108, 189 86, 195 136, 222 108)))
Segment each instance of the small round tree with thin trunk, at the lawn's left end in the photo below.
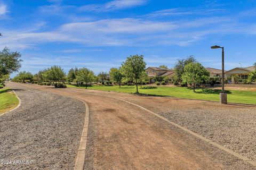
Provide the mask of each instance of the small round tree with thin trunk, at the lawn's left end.
POLYGON ((93 71, 87 69, 87 68, 82 68, 78 70, 77 73, 77 81, 79 82, 85 82, 85 88, 87 89, 87 84, 94 79, 94 73, 93 71))

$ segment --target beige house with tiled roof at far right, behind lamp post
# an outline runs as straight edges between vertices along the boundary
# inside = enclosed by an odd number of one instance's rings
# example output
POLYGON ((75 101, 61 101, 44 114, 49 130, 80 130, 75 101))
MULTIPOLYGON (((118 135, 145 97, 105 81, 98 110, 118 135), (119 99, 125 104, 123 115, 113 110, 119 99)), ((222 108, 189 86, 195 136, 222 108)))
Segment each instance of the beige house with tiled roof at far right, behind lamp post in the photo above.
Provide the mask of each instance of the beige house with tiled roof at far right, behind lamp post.
POLYGON ((234 82, 234 75, 239 75, 239 77, 244 80, 248 79, 248 75, 255 70, 255 66, 250 67, 236 67, 235 69, 231 69, 227 71, 226 78, 231 77, 231 82, 234 82))

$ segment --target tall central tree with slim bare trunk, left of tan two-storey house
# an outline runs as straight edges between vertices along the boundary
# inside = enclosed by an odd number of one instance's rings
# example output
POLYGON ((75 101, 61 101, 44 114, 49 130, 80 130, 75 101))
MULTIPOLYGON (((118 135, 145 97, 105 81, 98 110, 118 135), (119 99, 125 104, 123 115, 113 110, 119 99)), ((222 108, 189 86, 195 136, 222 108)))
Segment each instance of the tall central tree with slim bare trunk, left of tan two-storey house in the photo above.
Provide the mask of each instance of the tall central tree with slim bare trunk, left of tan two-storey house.
POLYGON ((143 55, 133 55, 127 57, 126 61, 122 64, 122 72, 124 73, 125 77, 135 80, 137 93, 139 93, 138 79, 145 71, 145 67, 146 63, 143 60, 143 55))

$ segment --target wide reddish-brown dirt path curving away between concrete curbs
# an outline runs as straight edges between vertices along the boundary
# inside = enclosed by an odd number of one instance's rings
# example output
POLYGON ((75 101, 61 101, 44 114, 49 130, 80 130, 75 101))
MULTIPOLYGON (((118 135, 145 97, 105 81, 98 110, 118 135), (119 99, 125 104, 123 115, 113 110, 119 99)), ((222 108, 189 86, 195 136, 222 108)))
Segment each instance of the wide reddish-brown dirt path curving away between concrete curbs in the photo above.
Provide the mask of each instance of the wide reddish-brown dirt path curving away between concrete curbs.
POLYGON ((85 169, 254 169, 139 107, 109 98, 139 100, 138 96, 33 84, 22 86, 79 98, 89 104, 85 169))

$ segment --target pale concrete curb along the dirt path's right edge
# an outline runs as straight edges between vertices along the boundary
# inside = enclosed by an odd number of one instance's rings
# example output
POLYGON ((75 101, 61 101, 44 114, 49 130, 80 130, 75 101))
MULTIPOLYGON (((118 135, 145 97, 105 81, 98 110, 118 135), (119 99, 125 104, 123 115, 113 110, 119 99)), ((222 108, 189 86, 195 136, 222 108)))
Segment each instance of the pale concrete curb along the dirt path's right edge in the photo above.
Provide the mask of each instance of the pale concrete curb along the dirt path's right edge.
POLYGON ((185 128, 185 127, 183 127, 183 126, 181 126, 181 125, 179 125, 179 124, 177 124, 177 123, 174 123, 174 122, 172 122, 172 121, 169 121, 169 120, 167 120, 167 118, 165 118, 165 117, 163 117, 163 116, 160 116, 160 115, 158 115, 158 114, 155 113, 155 112, 149 111, 148 109, 146 109, 146 108, 144 108, 144 107, 142 107, 142 106, 140 106, 140 105, 131 103, 130 101, 126 101, 126 100, 118 99, 118 98, 113 98, 113 99, 121 100, 121 101, 124 101, 124 102, 126 102, 126 103, 129 103, 129 104, 131 104, 131 105, 140 107, 141 109, 143 109, 143 110, 145 110, 145 111, 147 111, 147 112, 149 112, 149 113, 151 113, 151 114, 154 114, 155 116, 157 116, 157 117, 161 118, 162 120, 164 120, 164 121, 166 121, 166 122, 168 122, 168 123, 174 125, 175 127, 179 128, 179 129, 181 129, 181 130, 183 130, 183 131, 186 131, 187 133, 193 135, 194 137, 197 137, 197 138, 199 138, 199 139, 201 139, 201 140, 203 140, 203 141, 209 143, 210 145, 213 145, 214 147, 217 147, 217 148, 219 148, 219 149, 221 149, 221 150, 223 150, 223 151, 226 151, 228 154, 231 154, 231 155, 235 156, 236 158, 242 159, 242 160, 244 160, 246 163, 249 163, 249 164, 251 164, 252 166, 255 166, 255 167, 256 167, 256 162, 255 162, 255 161, 250 160, 249 158, 247 158, 247 157, 245 157, 245 156, 242 156, 242 155, 238 154, 237 152, 235 152, 235 151, 233 151, 233 150, 230 150, 230 149, 228 149, 228 148, 226 148, 226 147, 223 147, 222 145, 219 145, 218 143, 213 142, 213 141, 211 141, 210 139, 207 139, 207 138, 203 137, 203 136, 200 135, 200 134, 197 134, 197 133, 195 133, 195 132, 193 132, 193 131, 190 131, 190 130, 188 130, 187 128, 185 128))

